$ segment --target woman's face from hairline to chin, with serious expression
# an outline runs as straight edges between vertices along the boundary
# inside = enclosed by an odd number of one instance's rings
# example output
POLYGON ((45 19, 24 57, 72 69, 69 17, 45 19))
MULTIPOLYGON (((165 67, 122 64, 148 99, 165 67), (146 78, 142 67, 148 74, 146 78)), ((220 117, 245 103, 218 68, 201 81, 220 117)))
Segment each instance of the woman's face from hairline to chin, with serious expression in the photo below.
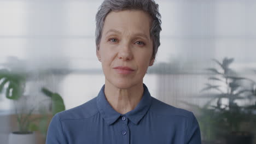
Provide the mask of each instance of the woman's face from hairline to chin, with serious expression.
POLYGON ((107 15, 97 50, 106 83, 121 89, 143 83, 154 62, 150 22, 149 15, 141 10, 112 11, 107 15))

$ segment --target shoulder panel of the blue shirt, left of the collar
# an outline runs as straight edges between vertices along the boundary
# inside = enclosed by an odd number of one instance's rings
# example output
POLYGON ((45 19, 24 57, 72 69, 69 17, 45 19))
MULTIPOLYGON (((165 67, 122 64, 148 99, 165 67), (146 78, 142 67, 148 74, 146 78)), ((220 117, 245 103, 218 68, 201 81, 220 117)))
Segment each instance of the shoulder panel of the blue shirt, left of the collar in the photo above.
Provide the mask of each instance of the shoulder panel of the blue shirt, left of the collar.
POLYGON ((72 109, 59 112, 55 116, 58 117, 60 121, 65 119, 86 119, 92 117, 98 113, 96 98, 97 97, 72 109))

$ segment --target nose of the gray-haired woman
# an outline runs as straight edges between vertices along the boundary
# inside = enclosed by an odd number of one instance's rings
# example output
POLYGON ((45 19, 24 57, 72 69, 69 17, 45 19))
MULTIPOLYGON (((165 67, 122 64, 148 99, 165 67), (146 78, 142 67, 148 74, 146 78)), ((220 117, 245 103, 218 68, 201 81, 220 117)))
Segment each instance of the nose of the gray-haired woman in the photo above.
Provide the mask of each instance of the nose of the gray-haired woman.
POLYGON ((118 58, 123 61, 130 61, 132 59, 131 46, 128 43, 120 45, 118 58))

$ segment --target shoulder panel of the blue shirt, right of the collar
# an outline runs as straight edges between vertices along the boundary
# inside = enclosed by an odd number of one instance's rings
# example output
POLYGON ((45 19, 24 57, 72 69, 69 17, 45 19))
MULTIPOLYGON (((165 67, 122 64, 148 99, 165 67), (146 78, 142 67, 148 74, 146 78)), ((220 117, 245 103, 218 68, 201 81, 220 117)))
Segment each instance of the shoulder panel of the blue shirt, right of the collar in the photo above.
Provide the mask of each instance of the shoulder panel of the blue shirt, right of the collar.
POLYGON ((166 117, 181 117, 185 119, 193 118, 192 112, 184 109, 180 109, 171 105, 168 105, 154 97, 152 97, 152 105, 150 111, 155 115, 166 116, 166 117))

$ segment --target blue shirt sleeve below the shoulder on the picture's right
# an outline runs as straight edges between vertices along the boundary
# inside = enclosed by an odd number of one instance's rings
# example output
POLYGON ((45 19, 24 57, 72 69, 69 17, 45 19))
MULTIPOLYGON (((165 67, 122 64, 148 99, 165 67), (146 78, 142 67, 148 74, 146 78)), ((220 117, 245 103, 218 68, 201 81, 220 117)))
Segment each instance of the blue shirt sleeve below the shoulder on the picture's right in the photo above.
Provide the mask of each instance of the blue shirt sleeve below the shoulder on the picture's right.
POLYGON ((188 123, 188 129, 187 129, 187 142, 186 144, 201 144, 201 133, 199 124, 194 116, 193 113, 191 113, 191 117, 189 119, 188 123))

